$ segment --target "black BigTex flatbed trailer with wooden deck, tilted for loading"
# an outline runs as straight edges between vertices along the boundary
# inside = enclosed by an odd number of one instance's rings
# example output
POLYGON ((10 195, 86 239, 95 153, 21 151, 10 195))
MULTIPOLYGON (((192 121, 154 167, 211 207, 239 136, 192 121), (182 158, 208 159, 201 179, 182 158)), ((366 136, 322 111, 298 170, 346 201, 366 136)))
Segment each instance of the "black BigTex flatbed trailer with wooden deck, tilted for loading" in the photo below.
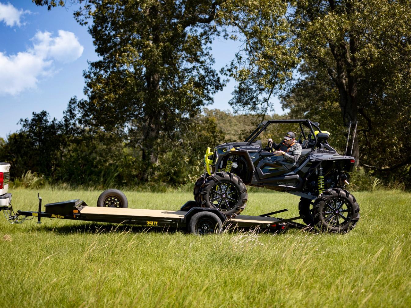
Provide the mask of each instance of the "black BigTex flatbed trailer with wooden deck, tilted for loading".
MULTIPOLYGON (((224 227, 228 228, 256 228, 266 232, 281 232, 286 228, 307 229, 306 225, 294 222, 300 216, 282 219, 270 217, 277 213, 288 211, 283 209, 260 216, 231 216, 227 217, 214 208, 197 207, 195 201, 187 201, 180 211, 131 209, 122 207, 93 207, 83 200, 68 200, 46 204, 42 211, 42 198, 39 198, 38 211, 16 211, 12 205, 0 206, 5 211, 11 223, 21 223, 27 217, 37 217, 37 223, 42 218, 59 218, 76 221, 93 221, 101 223, 117 223, 127 225, 142 225, 147 227, 173 227, 187 230, 194 234, 218 233, 224 227)), ((10 195, 11 198, 11 195, 10 195)))

